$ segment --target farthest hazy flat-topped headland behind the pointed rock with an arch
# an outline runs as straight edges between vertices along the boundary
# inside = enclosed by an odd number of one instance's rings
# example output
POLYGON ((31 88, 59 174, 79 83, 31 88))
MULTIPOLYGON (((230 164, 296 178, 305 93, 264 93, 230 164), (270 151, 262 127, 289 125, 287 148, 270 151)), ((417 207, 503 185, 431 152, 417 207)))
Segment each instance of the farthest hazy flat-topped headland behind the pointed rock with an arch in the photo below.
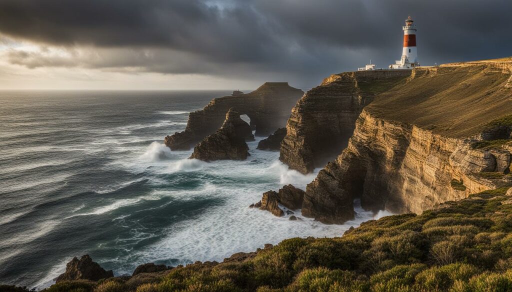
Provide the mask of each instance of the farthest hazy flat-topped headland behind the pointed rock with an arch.
POLYGON ((293 88, 286 82, 267 82, 248 94, 213 99, 202 110, 190 113, 185 130, 165 137, 165 145, 172 150, 194 147, 222 125, 224 115, 230 108, 250 118, 256 136, 268 136, 286 125, 290 109, 303 95, 301 89, 293 88))

